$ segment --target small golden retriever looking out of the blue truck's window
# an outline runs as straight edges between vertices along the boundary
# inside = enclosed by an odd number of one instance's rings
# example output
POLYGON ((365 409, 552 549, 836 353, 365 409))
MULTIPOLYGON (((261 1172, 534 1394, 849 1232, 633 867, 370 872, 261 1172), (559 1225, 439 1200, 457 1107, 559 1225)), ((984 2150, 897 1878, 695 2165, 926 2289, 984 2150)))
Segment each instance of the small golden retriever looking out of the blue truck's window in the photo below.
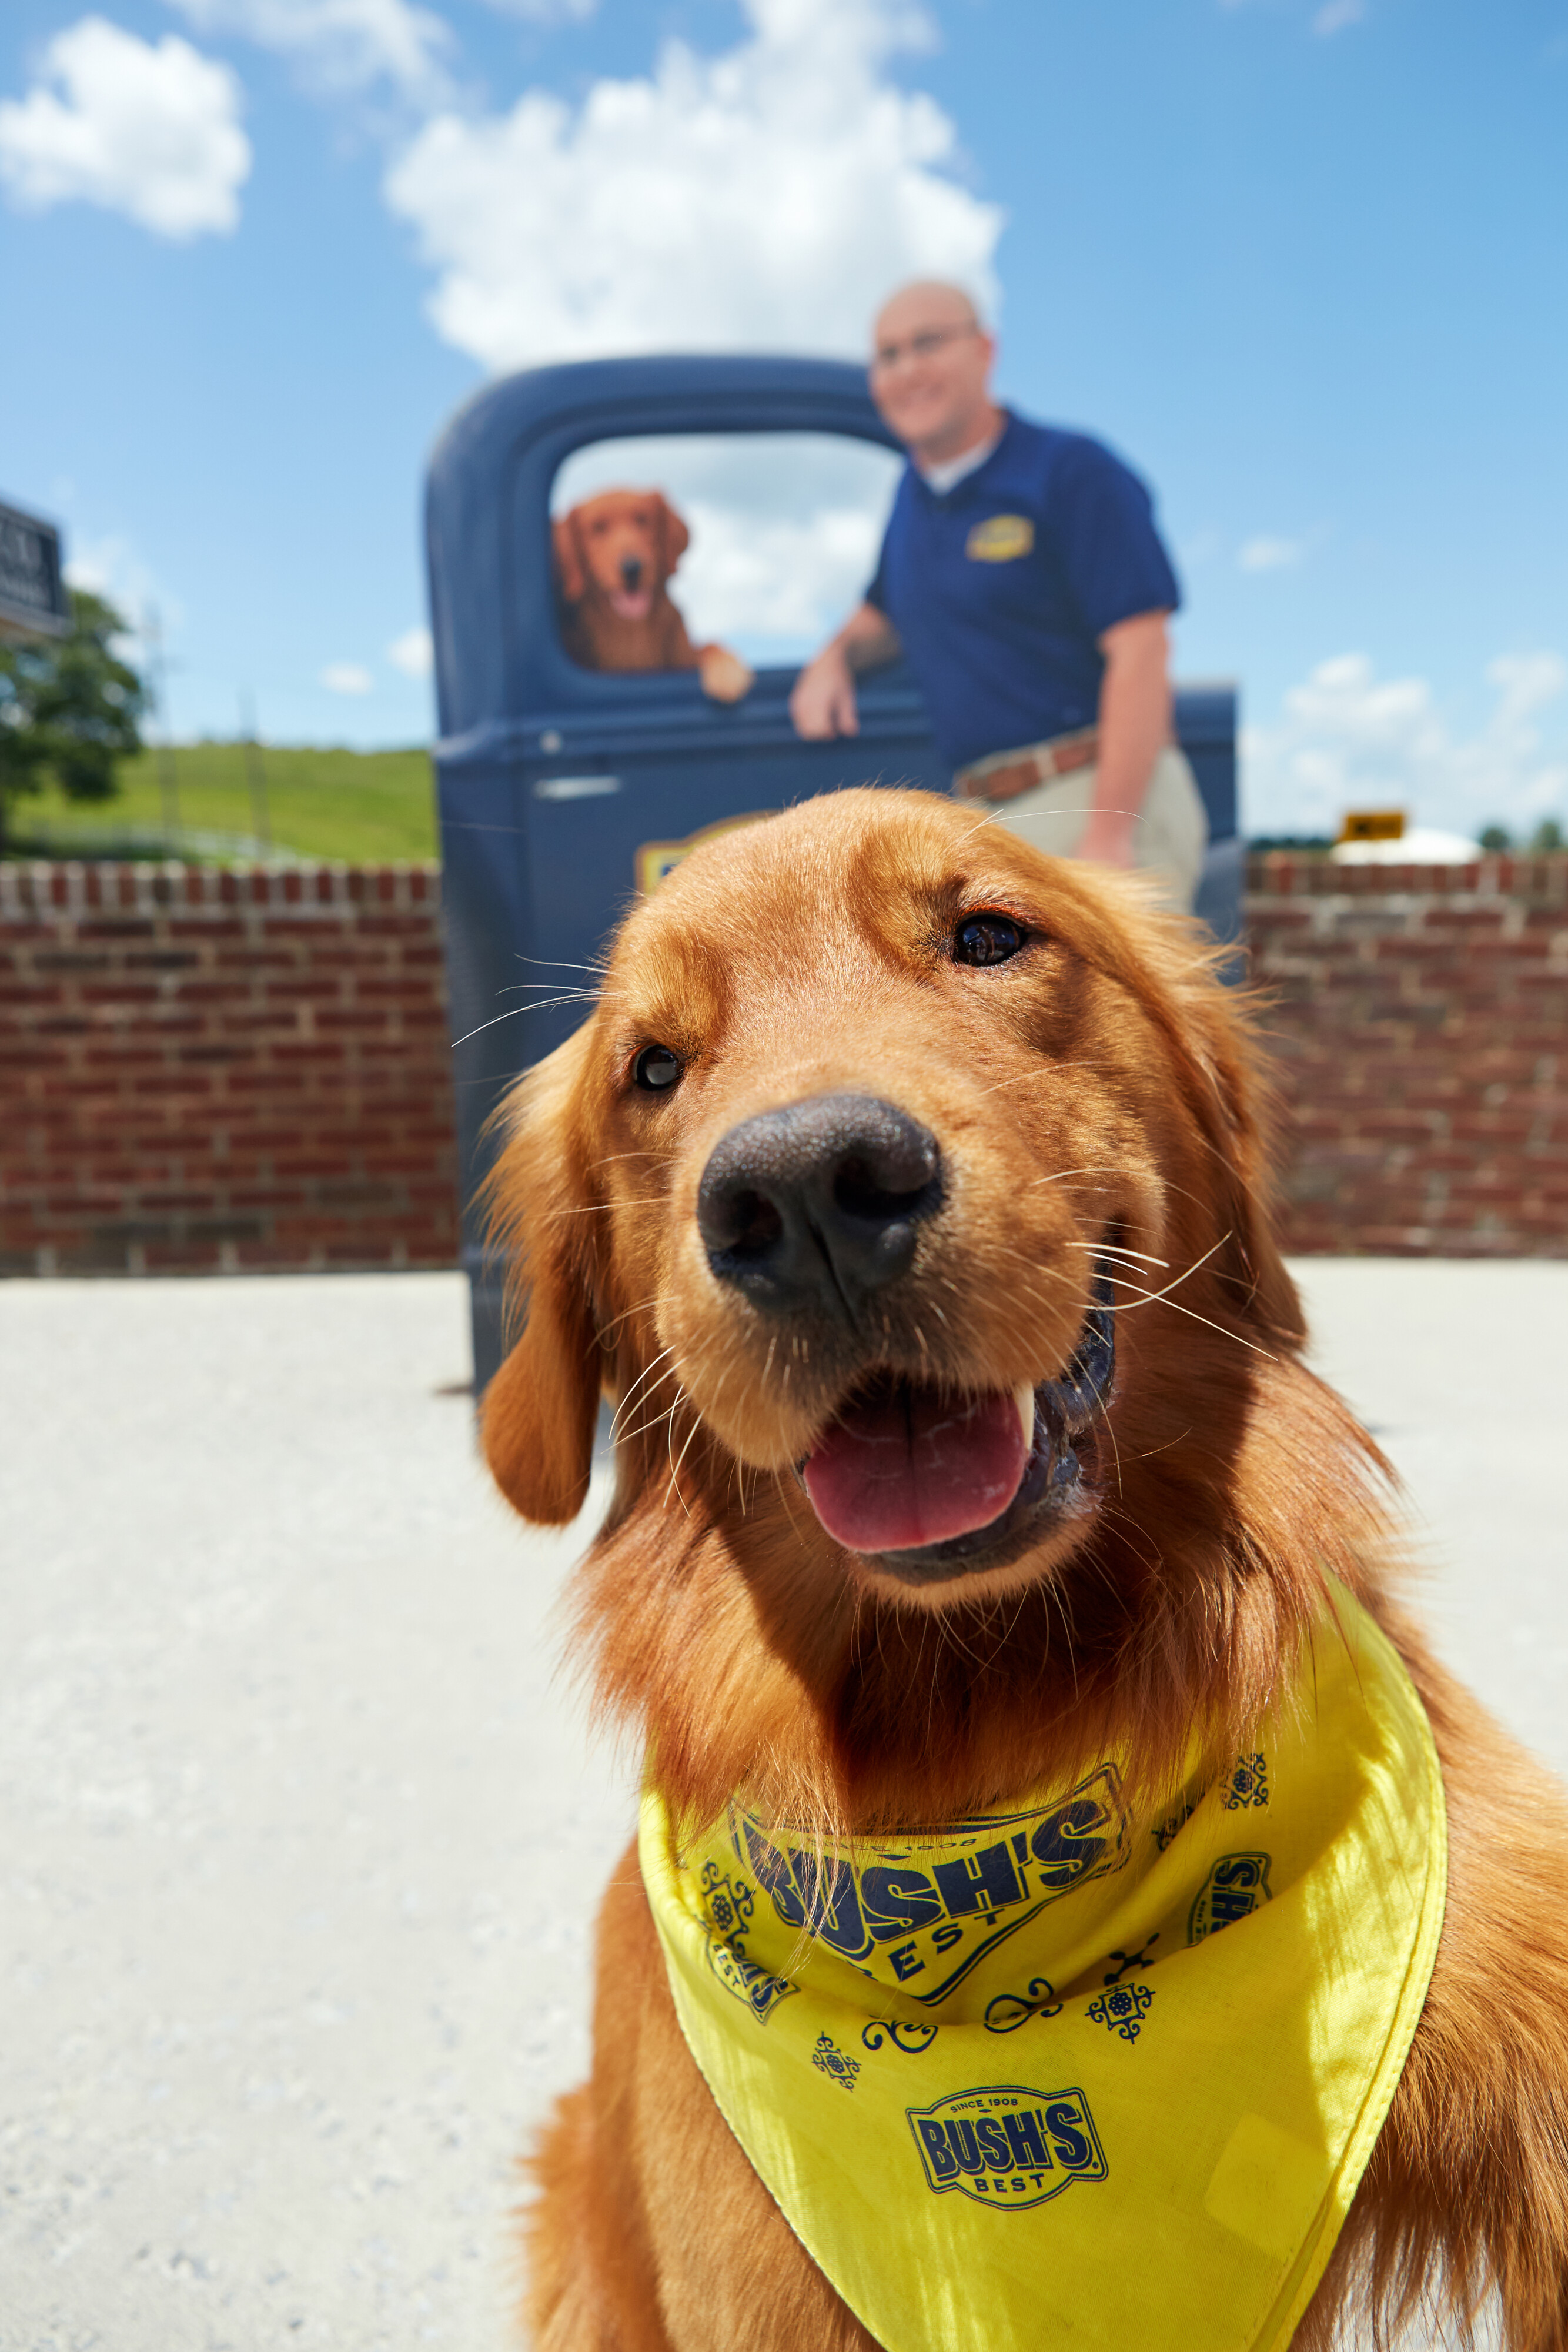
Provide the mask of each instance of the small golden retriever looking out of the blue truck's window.
POLYGON ((562 642, 585 670, 696 670, 738 703, 752 673, 724 644, 693 644, 668 579, 691 534, 658 489, 602 489, 552 524, 562 642))

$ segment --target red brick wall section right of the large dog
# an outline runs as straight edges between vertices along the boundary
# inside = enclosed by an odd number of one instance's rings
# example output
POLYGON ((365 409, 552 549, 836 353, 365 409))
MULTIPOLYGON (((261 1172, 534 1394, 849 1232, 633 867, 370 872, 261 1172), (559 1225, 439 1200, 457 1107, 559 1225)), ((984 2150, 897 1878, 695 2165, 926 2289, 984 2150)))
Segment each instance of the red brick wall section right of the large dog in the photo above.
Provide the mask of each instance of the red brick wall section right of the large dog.
POLYGON ((1568 1256, 1568 856, 1258 856, 1286 1244, 1568 1256))

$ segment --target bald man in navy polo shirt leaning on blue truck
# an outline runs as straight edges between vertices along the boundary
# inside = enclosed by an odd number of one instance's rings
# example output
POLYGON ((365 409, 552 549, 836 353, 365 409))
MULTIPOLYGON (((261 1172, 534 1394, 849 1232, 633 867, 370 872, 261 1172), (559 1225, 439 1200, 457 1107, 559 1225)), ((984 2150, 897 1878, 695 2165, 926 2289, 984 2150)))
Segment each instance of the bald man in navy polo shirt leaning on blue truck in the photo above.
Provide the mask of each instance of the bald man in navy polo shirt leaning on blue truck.
POLYGON ((1180 590, 1150 494, 1086 433, 997 407, 994 358, 961 287, 907 285, 877 318, 872 400, 910 463, 865 602, 790 715, 802 736, 853 736, 856 673, 903 649, 961 797, 1192 906, 1208 818, 1171 741, 1180 590))

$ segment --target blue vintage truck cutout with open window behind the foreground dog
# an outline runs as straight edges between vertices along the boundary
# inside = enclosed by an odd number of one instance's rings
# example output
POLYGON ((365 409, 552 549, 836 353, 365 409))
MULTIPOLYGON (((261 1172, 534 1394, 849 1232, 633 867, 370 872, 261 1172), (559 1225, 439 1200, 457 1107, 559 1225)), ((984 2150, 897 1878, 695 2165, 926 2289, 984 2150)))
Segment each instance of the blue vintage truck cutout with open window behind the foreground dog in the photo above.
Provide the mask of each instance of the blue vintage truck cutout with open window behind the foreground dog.
MULTIPOLYGON (((590 985, 583 967, 632 894, 726 818, 849 783, 950 783, 903 666, 860 680, 853 741, 802 743, 790 724, 802 654, 870 579, 896 468, 860 369, 783 358, 529 369, 477 393, 437 445, 425 494, 435 771, 480 1390, 501 1359, 501 1272, 475 1211, 494 1155, 487 1122, 512 1077, 578 1025, 571 995, 590 985), (562 647, 552 510, 651 475, 693 529, 675 586, 686 616, 705 604, 757 668, 741 703, 708 701, 691 670, 611 675, 562 647)), ((1232 938, 1234 691, 1182 689, 1175 720, 1208 804, 1199 913, 1232 938)))

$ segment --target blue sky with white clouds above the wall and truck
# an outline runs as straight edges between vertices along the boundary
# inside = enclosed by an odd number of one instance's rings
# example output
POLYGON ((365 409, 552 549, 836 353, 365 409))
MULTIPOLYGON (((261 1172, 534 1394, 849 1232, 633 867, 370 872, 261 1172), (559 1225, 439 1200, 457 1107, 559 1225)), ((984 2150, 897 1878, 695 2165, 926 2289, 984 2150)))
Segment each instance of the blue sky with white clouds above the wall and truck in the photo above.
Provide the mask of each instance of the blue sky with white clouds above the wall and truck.
POLYGON ((414 741, 489 372, 966 270, 1154 482, 1255 830, 1568 816, 1566 256, 1568 0, 12 0, 0 496, 181 734, 414 741))

